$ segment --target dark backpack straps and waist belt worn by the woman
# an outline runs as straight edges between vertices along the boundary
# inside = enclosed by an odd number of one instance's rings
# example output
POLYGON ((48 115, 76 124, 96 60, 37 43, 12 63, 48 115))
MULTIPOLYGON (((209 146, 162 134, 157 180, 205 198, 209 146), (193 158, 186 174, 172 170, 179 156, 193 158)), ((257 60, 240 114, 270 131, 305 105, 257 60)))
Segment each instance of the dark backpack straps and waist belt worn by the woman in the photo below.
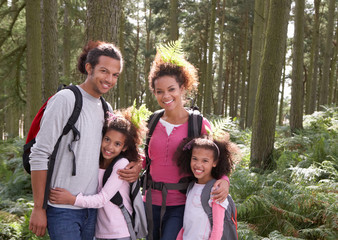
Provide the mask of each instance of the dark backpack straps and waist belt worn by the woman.
MULTIPOLYGON (((201 135, 202 130, 202 122, 203 122, 203 116, 202 114, 196 109, 187 109, 189 112, 189 120, 188 120, 188 137, 198 137, 201 135)), ((145 190, 147 190, 146 194, 146 213, 147 213, 147 222, 148 222, 148 239, 153 239, 153 212, 152 212, 152 198, 151 198, 151 189, 159 190, 162 192, 163 197, 163 204, 161 206, 161 220, 160 220, 160 226, 162 225, 162 219, 165 214, 166 210, 166 197, 167 197, 167 190, 179 190, 179 191, 185 191, 189 185, 189 182, 191 181, 190 177, 182 178, 180 182, 178 183, 164 183, 164 182, 154 182, 152 181, 151 175, 150 175, 150 166, 151 166, 151 159, 148 155, 148 147, 149 142, 151 139, 151 136, 155 130, 155 127, 160 120, 160 118, 163 116, 164 110, 158 110, 154 112, 148 119, 148 134, 146 137, 146 144, 145 144, 145 155, 146 155, 146 167, 145 171, 142 176, 142 194, 145 194, 145 190)))

